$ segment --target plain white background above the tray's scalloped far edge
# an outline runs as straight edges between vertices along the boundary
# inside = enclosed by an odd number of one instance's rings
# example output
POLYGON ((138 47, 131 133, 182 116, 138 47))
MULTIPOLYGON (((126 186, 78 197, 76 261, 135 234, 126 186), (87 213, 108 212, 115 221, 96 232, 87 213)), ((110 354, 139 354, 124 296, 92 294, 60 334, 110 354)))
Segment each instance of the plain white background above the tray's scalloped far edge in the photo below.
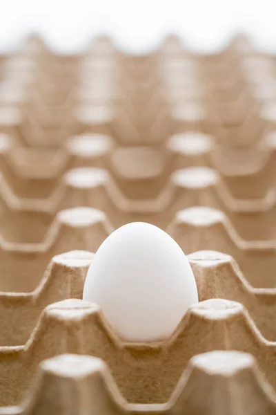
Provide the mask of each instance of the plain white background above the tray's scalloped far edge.
POLYGON ((167 33, 197 50, 219 48, 243 30, 276 52, 276 0, 0 0, 0 49, 30 30, 59 50, 75 50, 91 35, 108 33, 139 53, 167 33))

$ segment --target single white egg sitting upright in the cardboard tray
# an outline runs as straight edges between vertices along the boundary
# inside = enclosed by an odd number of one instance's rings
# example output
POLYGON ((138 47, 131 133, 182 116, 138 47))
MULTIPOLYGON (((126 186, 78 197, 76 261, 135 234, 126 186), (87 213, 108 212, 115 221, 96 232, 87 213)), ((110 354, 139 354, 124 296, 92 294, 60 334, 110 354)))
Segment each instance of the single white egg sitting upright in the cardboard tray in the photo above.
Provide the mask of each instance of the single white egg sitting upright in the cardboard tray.
POLYGON ((83 299, 98 304, 126 342, 166 340, 187 308, 198 302, 188 259, 166 232, 150 223, 128 223, 97 250, 83 299))

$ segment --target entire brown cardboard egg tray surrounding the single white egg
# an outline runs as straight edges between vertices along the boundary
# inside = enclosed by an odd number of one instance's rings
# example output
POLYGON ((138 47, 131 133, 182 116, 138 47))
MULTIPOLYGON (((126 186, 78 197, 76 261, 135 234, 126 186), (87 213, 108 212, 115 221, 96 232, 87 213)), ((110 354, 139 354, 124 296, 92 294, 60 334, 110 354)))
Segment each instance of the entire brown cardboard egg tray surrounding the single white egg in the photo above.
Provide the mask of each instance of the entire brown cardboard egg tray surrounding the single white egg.
POLYGON ((275 181, 276 57, 247 37, 0 55, 0 415, 276 414, 275 181), (81 299, 130 221, 197 281, 164 342, 123 342, 81 299))

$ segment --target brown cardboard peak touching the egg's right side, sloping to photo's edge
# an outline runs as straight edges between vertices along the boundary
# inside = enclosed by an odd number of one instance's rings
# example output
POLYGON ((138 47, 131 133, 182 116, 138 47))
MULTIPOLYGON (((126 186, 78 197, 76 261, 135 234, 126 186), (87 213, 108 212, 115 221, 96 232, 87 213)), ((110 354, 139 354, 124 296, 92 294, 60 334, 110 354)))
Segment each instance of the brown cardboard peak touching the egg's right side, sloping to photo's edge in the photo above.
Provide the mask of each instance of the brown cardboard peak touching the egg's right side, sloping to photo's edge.
MULTIPOLYGON (((275 342, 275 288, 254 288, 230 255, 203 250, 188 255, 199 299, 225 298, 242 303, 266 340, 275 342)), ((264 271, 263 271, 264 272, 264 271)))

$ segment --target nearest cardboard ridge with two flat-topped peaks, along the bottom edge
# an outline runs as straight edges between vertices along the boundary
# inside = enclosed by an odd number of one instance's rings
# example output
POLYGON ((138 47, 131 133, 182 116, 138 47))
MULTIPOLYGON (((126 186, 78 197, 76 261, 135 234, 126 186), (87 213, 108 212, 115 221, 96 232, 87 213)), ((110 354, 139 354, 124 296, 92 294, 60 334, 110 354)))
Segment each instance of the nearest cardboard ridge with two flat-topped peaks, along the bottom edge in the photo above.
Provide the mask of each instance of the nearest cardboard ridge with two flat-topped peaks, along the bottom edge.
MULTIPOLYGON (((275 395, 255 359, 238 351, 213 351, 190 359, 168 403, 133 404, 122 396, 99 358, 63 354, 39 365, 37 385, 12 414, 91 413, 273 415, 275 395), (51 398, 49 398, 51 397, 51 398)), ((8 415, 10 408, 1 408, 8 415)))

